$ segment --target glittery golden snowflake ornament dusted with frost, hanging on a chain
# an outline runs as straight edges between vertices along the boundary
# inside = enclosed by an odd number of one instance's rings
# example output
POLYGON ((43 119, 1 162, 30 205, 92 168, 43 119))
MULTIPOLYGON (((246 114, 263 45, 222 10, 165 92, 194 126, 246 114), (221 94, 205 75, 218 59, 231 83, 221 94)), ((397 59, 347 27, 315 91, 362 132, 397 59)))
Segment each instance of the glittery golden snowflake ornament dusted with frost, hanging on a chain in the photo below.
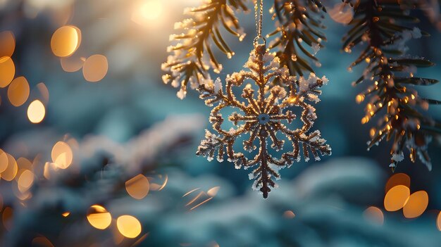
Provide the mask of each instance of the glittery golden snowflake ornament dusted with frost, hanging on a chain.
POLYGON ((264 44, 254 46, 244 68, 249 71, 242 70, 227 76, 225 92, 219 78, 215 82, 205 80, 199 86, 200 98, 205 100, 207 106, 213 106, 209 120, 217 133, 206 130, 197 155, 211 161, 217 152, 217 160, 222 162, 226 152, 228 161, 234 162, 236 169, 256 167, 249 175, 250 179, 254 179, 253 189, 260 189, 263 198, 267 198, 271 188, 276 186, 273 179, 280 178, 278 170, 300 161, 301 146, 305 161, 309 160, 311 153, 316 160, 331 154, 331 148, 325 144, 321 133, 318 130, 309 132, 317 116, 316 109, 307 103, 319 101, 319 88, 328 80, 325 77, 320 79, 313 73, 308 79, 300 77, 297 80, 286 67, 280 68, 279 59, 273 53, 268 53, 264 44), (271 84, 274 78, 280 82, 279 85, 271 84), (245 80, 254 81, 258 88, 256 95, 251 84, 242 86, 245 80), (233 87, 243 87, 243 101, 235 97, 233 87), (297 120, 297 116, 288 110, 291 107, 302 108, 301 129, 291 130, 288 127, 297 120), (241 112, 228 117, 234 125, 229 130, 222 128, 224 119, 220 111, 224 108, 236 108, 241 112), (275 158, 269 153, 268 140, 271 140, 271 148, 281 151, 285 141, 278 138, 279 132, 292 142, 292 151, 275 158), (237 138, 244 134, 249 136, 243 141, 245 151, 251 153, 256 149, 255 144, 259 145, 258 153, 252 159, 233 149, 237 138))

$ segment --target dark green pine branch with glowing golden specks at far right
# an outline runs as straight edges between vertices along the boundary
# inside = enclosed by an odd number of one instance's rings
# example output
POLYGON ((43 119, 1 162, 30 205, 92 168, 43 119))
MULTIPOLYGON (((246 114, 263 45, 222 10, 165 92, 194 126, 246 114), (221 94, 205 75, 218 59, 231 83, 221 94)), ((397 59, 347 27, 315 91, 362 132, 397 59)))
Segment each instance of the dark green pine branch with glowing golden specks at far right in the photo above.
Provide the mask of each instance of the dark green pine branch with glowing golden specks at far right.
POLYGON ((366 43, 364 51, 349 69, 363 61, 368 64, 364 74, 354 82, 372 83, 356 96, 358 103, 366 96, 369 98, 366 116, 361 122, 365 124, 383 114, 378 127, 371 129, 368 148, 378 145, 383 139, 390 141, 393 138, 390 151, 392 170, 404 160, 404 148, 409 150, 412 162, 418 155, 430 170, 428 144, 433 137, 440 135, 441 129, 440 122, 424 114, 423 110, 427 110, 430 103, 437 104, 439 101, 421 98, 414 86, 431 85, 438 81, 414 77, 416 68, 434 64, 425 58, 404 56, 408 50, 405 46, 407 40, 428 34, 406 25, 418 23, 418 18, 410 16, 409 10, 402 7, 393 1, 361 1, 355 8, 354 20, 349 23, 352 28, 343 38, 343 48, 351 52, 353 46, 366 43))

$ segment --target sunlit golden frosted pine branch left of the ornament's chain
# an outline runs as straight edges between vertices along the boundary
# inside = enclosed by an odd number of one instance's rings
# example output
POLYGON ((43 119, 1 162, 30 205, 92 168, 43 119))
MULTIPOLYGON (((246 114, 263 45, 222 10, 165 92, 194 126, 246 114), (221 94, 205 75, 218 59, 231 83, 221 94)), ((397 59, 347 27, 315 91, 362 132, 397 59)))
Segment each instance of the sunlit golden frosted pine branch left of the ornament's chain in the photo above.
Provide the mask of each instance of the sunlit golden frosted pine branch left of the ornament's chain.
POLYGON ((221 27, 230 34, 244 39, 244 32, 235 17, 237 11, 247 11, 247 0, 211 0, 197 8, 185 11, 192 18, 175 23, 176 30, 183 30, 182 34, 170 36, 170 41, 178 41, 175 46, 169 46, 167 62, 163 63, 162 70, 164 83, 169 82, 173 87, 180 87, 178 97, 183 99, 187 94, 187 87, 197 89, 200 81, 209 77, 210 68, 214 72, 221 72, 222 65, 218 63, 211 49, 211 42, 228 58, 234 55, 222 37, 221 27))

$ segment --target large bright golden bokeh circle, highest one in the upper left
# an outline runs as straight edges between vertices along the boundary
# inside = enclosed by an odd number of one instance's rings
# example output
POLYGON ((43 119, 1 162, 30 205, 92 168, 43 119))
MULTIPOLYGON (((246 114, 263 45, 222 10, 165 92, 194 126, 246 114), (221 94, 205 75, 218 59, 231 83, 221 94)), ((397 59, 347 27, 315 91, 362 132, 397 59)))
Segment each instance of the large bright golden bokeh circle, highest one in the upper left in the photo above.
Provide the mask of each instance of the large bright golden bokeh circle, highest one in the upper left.
POLYGON ((52 35, 51 49, 55 56, 66 57, 77 51, 81 44, 79 28, 68 25, 58 28, 52 35))

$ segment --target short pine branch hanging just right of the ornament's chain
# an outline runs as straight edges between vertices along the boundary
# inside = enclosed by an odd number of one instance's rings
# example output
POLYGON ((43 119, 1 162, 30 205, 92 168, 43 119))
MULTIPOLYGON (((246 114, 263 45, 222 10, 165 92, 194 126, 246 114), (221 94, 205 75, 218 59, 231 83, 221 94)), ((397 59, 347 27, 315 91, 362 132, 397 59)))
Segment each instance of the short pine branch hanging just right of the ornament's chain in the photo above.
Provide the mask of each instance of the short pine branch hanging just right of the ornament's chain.
POLYGON ((317 51, 326 41, 325 34, 320 30, 325 26, 321 24, 325 8, 318 0, 275 0, 272 12, 273 19, 278 19, 276 29, 267 35, 275 37, 269 49, 280 47, 277 56, 280 65, 286 65, 291 75, 303 76, 304 72, 313 72, 309 63, 312 60, 320 65, 315 57, 317 51), (308 51, 309 46, 313 51, 308 51))

